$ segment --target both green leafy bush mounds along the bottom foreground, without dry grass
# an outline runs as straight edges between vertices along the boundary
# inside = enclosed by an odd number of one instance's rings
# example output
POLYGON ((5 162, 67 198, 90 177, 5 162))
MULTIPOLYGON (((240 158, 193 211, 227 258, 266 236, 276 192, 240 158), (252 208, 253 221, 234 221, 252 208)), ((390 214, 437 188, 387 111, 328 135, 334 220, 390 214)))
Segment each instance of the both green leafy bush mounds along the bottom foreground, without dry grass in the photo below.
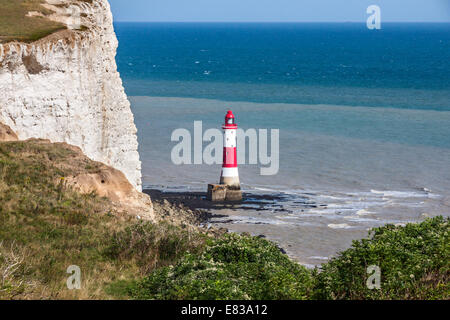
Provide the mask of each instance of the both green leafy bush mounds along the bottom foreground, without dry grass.
POLYGON ((122 286, 122 293, 135 299, 448 299, 448 231, 443 217, 377 228, 320 272, 265 240, 227 235, 122 286), (381 269, 380 290, 367 288, 370 265, 381 269))

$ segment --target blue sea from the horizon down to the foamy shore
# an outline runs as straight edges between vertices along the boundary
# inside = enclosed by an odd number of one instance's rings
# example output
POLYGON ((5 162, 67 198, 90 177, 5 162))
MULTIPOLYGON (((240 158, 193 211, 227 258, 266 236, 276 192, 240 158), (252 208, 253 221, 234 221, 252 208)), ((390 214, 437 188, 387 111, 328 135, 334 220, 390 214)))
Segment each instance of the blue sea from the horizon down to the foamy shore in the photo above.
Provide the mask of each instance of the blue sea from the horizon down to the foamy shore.
POLYGON ((265 234, 314 265, 369 228, 450 213, 450 24, 115 29, 146 187, 216 182, 220 165, 171 162, 171 133, 194 121, 220 129, 231 109, 243 129, 280 130, 279 173, 243 165, 240 178, 250 195, 282 200, 227 209, 217 225, 265 234))

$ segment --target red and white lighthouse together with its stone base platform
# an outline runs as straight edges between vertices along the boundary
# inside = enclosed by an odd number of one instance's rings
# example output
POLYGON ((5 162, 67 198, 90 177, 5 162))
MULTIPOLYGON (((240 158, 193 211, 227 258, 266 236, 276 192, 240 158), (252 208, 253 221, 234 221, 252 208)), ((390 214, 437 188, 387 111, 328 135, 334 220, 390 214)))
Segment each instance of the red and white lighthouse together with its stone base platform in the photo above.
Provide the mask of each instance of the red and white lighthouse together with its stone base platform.
POLYGON ((241 201, 242 191, 237 167, 237 124, 234 114, 228 110, 223 129, 223 164, 219 184, 209 184, 207 198, 210 201, 241 201))

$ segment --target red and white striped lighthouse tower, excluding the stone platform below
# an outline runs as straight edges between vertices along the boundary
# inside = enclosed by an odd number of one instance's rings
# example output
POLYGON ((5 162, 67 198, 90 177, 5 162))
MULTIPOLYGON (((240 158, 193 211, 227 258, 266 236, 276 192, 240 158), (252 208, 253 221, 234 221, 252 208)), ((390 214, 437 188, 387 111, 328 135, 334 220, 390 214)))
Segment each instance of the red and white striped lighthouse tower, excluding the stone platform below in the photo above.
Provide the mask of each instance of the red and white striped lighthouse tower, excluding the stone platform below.
POLYGON ((237 124, 234 114, 228 110, 225 116, 225 124, 222 126, 224 131, 223 138, 223 164, 220 184, 227 185, 232 189, 240 189, 239 172, 237 168, 237 124))

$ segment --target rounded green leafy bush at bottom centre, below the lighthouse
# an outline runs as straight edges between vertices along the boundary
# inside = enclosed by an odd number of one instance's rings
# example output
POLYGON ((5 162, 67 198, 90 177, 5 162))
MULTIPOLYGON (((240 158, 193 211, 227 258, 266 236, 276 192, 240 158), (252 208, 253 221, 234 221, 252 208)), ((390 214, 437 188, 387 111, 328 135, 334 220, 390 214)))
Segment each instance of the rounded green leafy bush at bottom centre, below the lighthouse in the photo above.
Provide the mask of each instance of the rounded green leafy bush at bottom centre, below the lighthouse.
POLYGON ((200 254, 156 270, 128 290, 136 299, 306 299, 310 271, 266 240, 227 234, 200 254))

